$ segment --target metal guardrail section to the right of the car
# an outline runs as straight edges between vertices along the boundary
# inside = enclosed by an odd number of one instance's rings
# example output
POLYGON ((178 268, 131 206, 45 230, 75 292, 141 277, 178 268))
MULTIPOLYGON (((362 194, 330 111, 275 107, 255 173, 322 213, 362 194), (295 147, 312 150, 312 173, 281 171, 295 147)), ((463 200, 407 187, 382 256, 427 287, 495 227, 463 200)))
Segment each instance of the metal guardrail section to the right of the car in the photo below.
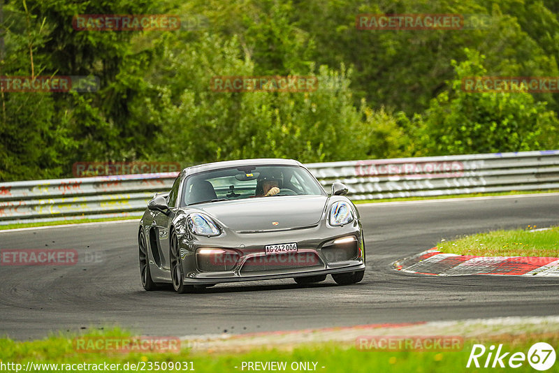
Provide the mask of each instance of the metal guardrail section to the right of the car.
POLYGON ((559 150, 308 164, 354 200, 559 188, 559 150))

